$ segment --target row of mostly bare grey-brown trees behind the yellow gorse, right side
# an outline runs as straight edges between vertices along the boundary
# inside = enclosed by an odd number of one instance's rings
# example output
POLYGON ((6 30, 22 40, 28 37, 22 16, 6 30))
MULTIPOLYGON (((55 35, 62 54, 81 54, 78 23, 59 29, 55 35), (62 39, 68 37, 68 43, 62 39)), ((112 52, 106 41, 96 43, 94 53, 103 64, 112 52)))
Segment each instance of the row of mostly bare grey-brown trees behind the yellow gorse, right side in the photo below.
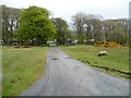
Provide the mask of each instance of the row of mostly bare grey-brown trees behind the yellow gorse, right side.
POLYGON ((72 21, 80 44, 84 41, 86 44, 116 41, 121 45, 128 45, 129 21, 126 19, 103 20, 100 15, 79 12, 72 16, 72 21))

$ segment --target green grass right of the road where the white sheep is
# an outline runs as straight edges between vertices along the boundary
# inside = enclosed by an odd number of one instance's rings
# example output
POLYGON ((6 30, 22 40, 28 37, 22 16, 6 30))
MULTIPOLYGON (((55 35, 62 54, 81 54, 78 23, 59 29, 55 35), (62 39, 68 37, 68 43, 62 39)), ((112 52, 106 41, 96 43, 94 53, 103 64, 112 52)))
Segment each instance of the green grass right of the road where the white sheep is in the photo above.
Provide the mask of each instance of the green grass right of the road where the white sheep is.
MULTIPOLYGON (((128 48, 102 48, 93 46, 70 46, 60 47, 71 57, 88 65, 106 66, 122 72, 129 72, 129 49, 128 48), (99 51, 107 51, 108 56, 98 57, 99 51)), ((95 68, 111 75, 130 78, 130 75, 121 74, 115 71, 108 71, 102 68, 95 68)))

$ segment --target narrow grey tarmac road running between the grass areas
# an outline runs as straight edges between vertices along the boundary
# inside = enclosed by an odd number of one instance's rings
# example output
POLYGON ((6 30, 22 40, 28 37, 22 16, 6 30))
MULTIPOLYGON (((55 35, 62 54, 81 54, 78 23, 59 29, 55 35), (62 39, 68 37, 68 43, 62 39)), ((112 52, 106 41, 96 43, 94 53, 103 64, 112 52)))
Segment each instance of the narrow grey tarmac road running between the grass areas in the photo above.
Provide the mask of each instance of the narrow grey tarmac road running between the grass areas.
POLYGON ((106 75, 50 48, 44 76, 20 96, 129 96, 129 81, 106 75))

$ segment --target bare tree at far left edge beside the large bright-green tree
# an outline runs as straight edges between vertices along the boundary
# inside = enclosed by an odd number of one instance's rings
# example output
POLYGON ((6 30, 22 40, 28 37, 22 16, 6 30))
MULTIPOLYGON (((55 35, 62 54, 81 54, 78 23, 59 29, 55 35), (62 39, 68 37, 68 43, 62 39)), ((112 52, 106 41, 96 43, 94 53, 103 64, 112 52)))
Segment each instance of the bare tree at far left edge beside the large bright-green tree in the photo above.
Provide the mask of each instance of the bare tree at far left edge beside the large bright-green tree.
POLYGON ((4 44, 9 44, 14 39, 21 9, 8 8, 5 5, 1 5, 0 9, 2 10, 2 40, 4 44))

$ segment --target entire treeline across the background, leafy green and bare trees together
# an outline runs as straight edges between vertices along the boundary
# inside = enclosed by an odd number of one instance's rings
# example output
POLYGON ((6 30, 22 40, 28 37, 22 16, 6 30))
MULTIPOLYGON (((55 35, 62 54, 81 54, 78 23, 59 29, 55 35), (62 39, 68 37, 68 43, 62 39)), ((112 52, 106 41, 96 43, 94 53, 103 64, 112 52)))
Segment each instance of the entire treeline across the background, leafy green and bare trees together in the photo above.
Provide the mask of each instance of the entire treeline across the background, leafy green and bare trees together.
POLYGON ((103 20, 103 16, 79 12, 72 16, 72 28, 61 17, 50 19, 50 12, 39 7, 15 9, 5 5, 2 11, 2 44, 13 41, 41 45, 57 39, 60 45, 76 40, 80 44, 116 41, 128 45, 130 22, 128 19, 103 20), (21 13, 21 14, 20 14, 21 13))

